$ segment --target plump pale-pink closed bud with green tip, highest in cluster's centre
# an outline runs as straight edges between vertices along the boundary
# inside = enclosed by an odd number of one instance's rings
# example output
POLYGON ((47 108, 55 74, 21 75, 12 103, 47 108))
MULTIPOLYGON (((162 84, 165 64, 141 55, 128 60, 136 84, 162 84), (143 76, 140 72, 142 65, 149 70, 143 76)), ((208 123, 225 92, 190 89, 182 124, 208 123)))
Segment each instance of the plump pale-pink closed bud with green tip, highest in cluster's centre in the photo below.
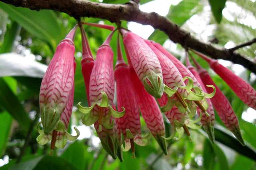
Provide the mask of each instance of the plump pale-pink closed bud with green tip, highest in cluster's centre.
POLYGON ((160 63, 144 39, 135 33, 121 29, 124 47, 130 64, 146 91, 156 98, 161 98, 164 83, 160 63))

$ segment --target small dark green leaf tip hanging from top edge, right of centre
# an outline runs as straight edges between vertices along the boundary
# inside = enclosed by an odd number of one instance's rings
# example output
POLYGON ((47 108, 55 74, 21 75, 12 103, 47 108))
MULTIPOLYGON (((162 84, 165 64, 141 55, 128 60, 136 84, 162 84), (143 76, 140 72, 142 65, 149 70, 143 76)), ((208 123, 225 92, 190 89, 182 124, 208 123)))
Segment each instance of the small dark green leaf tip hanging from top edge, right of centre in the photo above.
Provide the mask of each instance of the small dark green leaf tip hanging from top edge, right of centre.
POLYGON ((209 3, 215 20, 220 23, 222 19, 222 10, 226 4, 226 0, 209 0, 209 3))

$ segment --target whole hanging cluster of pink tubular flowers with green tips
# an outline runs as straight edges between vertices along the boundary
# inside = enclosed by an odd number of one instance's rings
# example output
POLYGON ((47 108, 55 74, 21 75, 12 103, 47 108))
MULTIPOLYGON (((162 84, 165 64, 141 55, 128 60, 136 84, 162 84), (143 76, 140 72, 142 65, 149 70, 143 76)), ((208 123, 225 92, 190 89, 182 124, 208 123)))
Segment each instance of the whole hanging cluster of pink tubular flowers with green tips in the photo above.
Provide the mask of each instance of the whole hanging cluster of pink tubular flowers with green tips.
MULTIPOLYGON (((230 103, 196 61, 198 71, 189 63, 188 58, 186 67, 160 44, 142 39, 124 28, 84 24, 112 31, 97 50, 94 60, 82 23, 79 23, 82 35, 82 75, 88 107, 78 103, 77 108, 84 114, 82 123, 94 124, 102 146, 114 159, 118 157, 122 161, 122 151, 129 149, 135 156, 134 143, 146 145, 150 133, 165 154, 166 140, 174 137, 176 132, 179 137, 184 132, 189 136, 188 128, 200 129, 202 125, 209 139, 214 142, 213 107, 243 144, 238 119, 230 103), (114 53, 110 41, 116 30, 118 51, 113 68, 114 53), (122 57, 119 34, 122 35, 128 64, 122 57), (117 102, 114 102, 115 92, 117 102), (150 131, 147 135, 141 134, 140 113, 150 131), (170 137, 165 135, 162 113, 174 129, 170 137)), ((52 149, 54 146, 63 148, 67 140, 73 141, 79 135, 76 128, 76 136, 67 132, 74 98, 76 63, 72 39, 75 31, 76 27, 58 45, 40 88, 43 130, 38 126, 40 135, 37 141, 44 145, 51 140, 52 149)), ((256 108, 256 92, 249 84, 217 61, 198 55, 208 61, 211 68, 243 102, 256 108)))

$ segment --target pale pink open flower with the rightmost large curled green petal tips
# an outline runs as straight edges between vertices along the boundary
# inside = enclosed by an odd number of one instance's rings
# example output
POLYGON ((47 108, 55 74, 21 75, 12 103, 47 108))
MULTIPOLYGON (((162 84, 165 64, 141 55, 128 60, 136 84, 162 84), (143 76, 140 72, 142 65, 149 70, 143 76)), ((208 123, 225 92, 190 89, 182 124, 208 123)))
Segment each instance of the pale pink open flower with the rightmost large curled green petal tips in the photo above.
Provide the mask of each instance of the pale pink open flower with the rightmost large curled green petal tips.
MULTIPOLYGON (((166 57, 168 57, 172 63, 178 68, 180 74, 182 75, 182 77, 190 77, 192 78, 193 82, 194 82, 194 86, 193 86, 193 91, 196 92, 196 94, 203 94, 204 98, 203 100, 195 100, 194 103, 200 107, 200 109, 209 116, 209 114, 207 113, 207 109, 208 109, 208 103, 206 101, 205 98, 211 98, 212 96, 214 96, 215 93, 215 89, 214 86, 211 86, 211 88, 213 88, 213 92, 211 94, 206 94, 202 91, 202 87, 201 85, 198 83, 198 81, 196 80, 196 78, 194 77, 194 75, 190 72, 190 70, 188 70, 188 68, 186 68, 186 66, 184 66, 176 57, 174 57, 172 54, 170 54, 168 51, 166 51, 166 49, 164 49, 164 47, 162 47, 160 44, 158 43, 154 43, 152 42, 152 44, 159 50, 161 51, 161 53, 163 53, 166 57)), ((192 104, 191 106, 193 106, 194 104, 192 104)), ((195 107, 194 107, 195 108, 195 107)))

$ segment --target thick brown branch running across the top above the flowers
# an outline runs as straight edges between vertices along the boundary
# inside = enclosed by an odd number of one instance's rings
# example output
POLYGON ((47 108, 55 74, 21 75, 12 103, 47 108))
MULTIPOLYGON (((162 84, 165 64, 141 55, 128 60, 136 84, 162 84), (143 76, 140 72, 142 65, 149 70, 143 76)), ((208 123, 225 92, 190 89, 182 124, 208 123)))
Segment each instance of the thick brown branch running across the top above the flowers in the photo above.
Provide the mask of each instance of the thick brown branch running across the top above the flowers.
POLYGON ((65 12, 66 14, 78 19, 79 17, 93 17, 106 19, 111 22, 120 20, 134 21, 142 25, 151 25, 155 29, 164 31, 166 35, 174 43, 179 43, 185 48, 194 49, 200 53, 208 55, 213 59, 224 59, 232 61, 236 64, 248 68, 256 73, 256 61, 251 58, 244 57, 228 49, 219 49, 211 44, 203 43, 202 41, 191 36, 189 32, 181 29, 168 20, 164 16, 160 16, 155 12, 142 12, 135 2, 128 2, 122 5, 104 4, 90 2, 88 0, 0 0, 7 4, 30 8, 31 10, 56 10, 65 12))

